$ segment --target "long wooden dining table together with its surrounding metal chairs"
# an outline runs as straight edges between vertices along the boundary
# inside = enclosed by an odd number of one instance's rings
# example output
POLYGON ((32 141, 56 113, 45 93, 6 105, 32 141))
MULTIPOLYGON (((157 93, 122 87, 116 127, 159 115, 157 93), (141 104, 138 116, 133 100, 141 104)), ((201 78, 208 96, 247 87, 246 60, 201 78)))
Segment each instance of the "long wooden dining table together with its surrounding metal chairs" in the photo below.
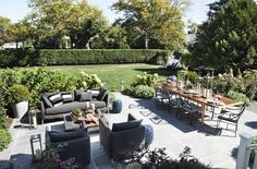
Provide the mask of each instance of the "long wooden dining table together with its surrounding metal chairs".
POLYGON ((182 117, 184 112, 191 116, 191 124, 193 118, 200 116, 201 124, 205 123, 206 109, 211 109, 211 120, 213 120, 215 109, 220 109, 220 114, 217 118, 217 128, 220 122, 227 122, 235 125, 235 135, 237 131, 237 123, 245 110, 246 104, 236 101, 224 96, 213 95, 212 97, 205 97, 197 90, 178 88, 169 83, 159 83, 156 86, 156 101, 157 105, 167 102, 169 105, 168 111, 174 110, 176 117, 182 117))

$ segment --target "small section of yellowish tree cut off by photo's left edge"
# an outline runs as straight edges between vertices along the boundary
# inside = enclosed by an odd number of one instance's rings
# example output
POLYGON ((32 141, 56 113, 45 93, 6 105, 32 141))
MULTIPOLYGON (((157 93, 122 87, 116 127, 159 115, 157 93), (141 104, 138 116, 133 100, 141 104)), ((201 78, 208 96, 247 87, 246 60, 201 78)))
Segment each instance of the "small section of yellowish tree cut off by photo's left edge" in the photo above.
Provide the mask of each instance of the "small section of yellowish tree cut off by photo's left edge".
POLYGON ((9 41, 7 29, 11 25, 11 20, 0 16, 0 46, 9 41))

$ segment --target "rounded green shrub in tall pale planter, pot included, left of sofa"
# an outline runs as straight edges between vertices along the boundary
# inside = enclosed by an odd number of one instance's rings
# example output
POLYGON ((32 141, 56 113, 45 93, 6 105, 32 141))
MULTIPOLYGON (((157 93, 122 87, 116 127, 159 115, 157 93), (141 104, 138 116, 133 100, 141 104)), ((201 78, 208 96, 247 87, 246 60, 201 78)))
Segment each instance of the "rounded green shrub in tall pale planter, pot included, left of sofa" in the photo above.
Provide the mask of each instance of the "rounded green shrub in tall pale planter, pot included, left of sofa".
POLYGON ((24 85, 13 85, 8 88, 7 101, 11 105, 15 118, 21 119, 28 110, 30 94, 24 85))

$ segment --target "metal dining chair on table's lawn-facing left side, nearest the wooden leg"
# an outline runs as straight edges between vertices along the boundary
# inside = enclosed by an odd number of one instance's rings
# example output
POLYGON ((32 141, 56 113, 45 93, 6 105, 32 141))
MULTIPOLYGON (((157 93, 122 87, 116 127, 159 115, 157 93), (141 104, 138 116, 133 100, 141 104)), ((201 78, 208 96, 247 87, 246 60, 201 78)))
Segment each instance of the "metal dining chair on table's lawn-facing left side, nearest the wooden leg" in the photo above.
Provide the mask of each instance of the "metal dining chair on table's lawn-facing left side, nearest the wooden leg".
POLYGON ((182 99, 181 108, 185 112, 189 113, 191 124, 193 123, 193 118, 196 117, 201 111, 201 107, 199 105, 196 105, 195 102, 187 100, 187 99, 182 99))

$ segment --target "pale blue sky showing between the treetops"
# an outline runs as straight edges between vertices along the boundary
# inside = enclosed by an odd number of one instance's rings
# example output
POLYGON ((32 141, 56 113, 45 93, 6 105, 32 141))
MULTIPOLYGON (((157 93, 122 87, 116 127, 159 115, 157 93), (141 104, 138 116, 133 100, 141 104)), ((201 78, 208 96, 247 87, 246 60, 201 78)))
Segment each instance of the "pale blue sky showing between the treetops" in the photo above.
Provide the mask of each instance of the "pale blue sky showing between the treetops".
MULTIPOLYGON (((192 0, 192 5, 185 13, 185 21, 192 20, 195 23, 201 23, 207 20, 208 7, 216 0, 192 0)), ((88 0, 89 3, 103 10, 105 15, 110 22, 113 22, 119 15, 110 9, 114 0, 88 0)), ((26 0, 0 0, 0 15, 9 17, 12 22, 23 19, 30 9, 27 7, 26 0)))

